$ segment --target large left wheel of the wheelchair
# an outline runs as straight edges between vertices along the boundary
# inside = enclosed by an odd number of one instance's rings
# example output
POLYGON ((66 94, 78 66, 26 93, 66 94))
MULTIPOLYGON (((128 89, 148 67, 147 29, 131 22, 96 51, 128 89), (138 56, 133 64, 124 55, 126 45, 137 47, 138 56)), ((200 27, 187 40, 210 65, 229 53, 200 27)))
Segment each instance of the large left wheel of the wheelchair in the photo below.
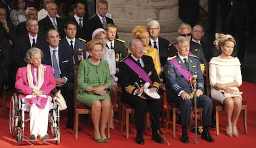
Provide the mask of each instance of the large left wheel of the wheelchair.
POLYGON ((11 97, 11 102, 10 102, 10 110, 9 110, 9 130, 12 136, 15 137, 15 128, 17 126, 17 114, 18 114, 18 109, 17 109, 17 94, 14 93, 14 95, 11 97))

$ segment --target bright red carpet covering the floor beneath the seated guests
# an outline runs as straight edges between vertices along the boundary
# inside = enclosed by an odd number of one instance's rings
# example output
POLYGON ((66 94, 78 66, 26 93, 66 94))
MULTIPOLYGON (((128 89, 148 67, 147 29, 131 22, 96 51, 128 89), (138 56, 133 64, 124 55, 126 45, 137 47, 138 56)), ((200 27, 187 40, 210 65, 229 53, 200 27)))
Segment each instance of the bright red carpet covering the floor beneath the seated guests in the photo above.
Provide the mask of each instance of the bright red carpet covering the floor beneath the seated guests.
MULTIPOLYGON (((167 146, 166 144, 158 144, 154 141, 151 141, 151 131, 145 130, 144 139, 145 144, 139 145, 135 143, 135 134, 136 130, 134 125, 130 125, 130 134, 129 139, 126 138, 126 134, 123 132, 120 132, 120 126, 117 123, 117 120, 115 120, 115 130, 111 130, 111 138, 109 139, 109 143, 96 143, 93 140, 93 127, 92 124, 88 125, 87 120, 85 120, 85 116, 80 117, 80 127, 82 128, 82 131, 79 132, 79 139, 75 139, 74 131, 67 130, 65 128, 65 118, 61 119, 61 143, 59 145, 56 145, 55 141, 51 142, 45 142, 42 143, 40 141, 34 142, 22 142, 21 146, 16 145, 16 141, 14 138, 12 138, 11 134, 9 133, 9 112, 3 112, 2 106, 0 110, 0 123, 2 126, 0 126, 0 147, 124 147, 124 148, 130 148, 130 147, 152 147, 152 148, 158 148, 158 147, 208 147, 208 148, 215 148, 215 147, 255 147, 256 146, 256 101, 255 101, 255 94, 254 91, 256 90, 256 84, 247 83, 244 82, 241 86, 241 91, 244 93, 242 96, 244 99, 247 100, 247 122, 248 122, 248 134, 244 134, 244 125, 242 123, 242 115, 239 118, 239 123, 237 125, 237 128, 239 128, 239 137, 238 138, 229 138, 225 134, 225 125, 226 125, 226 119, 224 116, 224 112, 221 112, 220 115, 220 136, 216 136, 216 130, 215 128, 210 129, 211 136, 215 138, 215 143, 209 143, 201 139, 200 134, 198 134, 198 144, 194 143, 195 135, 194 133, 189 132, 189 144, 183 144, 179 138, 181 137, 181 126, 177 125, 176 130, 176 138, 173 138, 173 130, 171 130, 171 127, 169 130, 165 131, 164 126, 162 125, 161 130, 164 133, 164 136, 168 139, 170 142, 170 146, 167 146)), ((7 96, 7 104, 9 106, 9 97, 7 96)), ((1 105, 2 105, 2 99, 1 105)), ((116 113, 117 114, 117 113, 116 113)), ((25 138, 28 138, 29 136, 29 124, 26 123, 25 128, 25 138)), ((50 132, 50 130, 48 130, 50 132)))

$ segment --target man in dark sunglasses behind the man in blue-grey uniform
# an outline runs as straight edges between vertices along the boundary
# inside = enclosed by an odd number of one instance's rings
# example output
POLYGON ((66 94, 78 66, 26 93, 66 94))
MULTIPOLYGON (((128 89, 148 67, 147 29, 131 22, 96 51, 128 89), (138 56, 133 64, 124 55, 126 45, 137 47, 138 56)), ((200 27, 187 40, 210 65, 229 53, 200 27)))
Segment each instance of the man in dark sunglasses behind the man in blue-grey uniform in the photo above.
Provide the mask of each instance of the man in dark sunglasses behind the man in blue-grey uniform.
MULTIPOLYGON (((207 60, 205 59, 205 54, 203 54, 202 46, 200 44, 192 41, 192 30, 188 23, 181 23, 178 28, 178 36, 184 36, 190 41, 190 55, 196 55, 201 64, 207 64, 207 60)), ((168 49, 168 57, 173 57, 177 55, 176 43, 169 44, 168 49)))

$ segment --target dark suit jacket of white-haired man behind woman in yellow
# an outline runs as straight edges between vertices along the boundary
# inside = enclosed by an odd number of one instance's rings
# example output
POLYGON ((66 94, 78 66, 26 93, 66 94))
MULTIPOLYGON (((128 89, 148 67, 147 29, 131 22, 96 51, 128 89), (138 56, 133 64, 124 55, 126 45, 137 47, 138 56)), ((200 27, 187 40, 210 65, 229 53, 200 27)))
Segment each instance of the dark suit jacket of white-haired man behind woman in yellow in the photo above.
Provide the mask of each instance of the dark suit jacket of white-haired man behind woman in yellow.
MULTIPOLYGON (((151 42, 149 43, 151 45, 151 42)), ((160 57, 160 63, 161 66, 165 65, 166 59, 168 58, 168 47, 169 47, 169 41, 167 39, 161 38, 160 36, 158 37, 158 46, 159 46, 159 57, 160 57)), ((154 47, 153 45, 151 45, 154 47)))

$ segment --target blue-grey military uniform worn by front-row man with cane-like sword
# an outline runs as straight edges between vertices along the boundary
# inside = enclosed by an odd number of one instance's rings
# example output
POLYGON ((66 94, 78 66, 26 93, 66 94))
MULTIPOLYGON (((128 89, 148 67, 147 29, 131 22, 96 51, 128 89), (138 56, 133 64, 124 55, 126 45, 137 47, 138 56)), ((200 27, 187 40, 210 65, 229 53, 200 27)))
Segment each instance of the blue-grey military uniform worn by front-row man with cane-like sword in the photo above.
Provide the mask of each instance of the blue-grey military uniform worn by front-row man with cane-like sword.
MULTIPOLYGON (((176 102, 179 104, 181 110, 181 124, 182 126, 189 125, 189 118, 191 113, 191 105, 194 104, 193 99, 182 99, 179 96, 181 91, 185 91, 188 94, 192 91, 192 86, 190 86, 189 81, 184 78, 182 73, 178 70, 176 65, 171 62, 172 60, 177 60, 177 64, 181 65, 181 68, 188 70, 186 65, 178 55, 168 58, 166 62, 166 68, 164 75, 166 76, 166 86, 167 86, 167 101, 176 102)), ((189 63, 189 72, 192 75, 197 75, 197 89, 204 90, 203 75, 200 70, 200 63, 196 56, 189 55, 187 59, 189 63)), ((198 107, 203 108, 203 126, 207 127, 211 125, 211 113, 212 113, 212 101, 211 98, 202 94, 202 96, 197 97, 198 107)))

